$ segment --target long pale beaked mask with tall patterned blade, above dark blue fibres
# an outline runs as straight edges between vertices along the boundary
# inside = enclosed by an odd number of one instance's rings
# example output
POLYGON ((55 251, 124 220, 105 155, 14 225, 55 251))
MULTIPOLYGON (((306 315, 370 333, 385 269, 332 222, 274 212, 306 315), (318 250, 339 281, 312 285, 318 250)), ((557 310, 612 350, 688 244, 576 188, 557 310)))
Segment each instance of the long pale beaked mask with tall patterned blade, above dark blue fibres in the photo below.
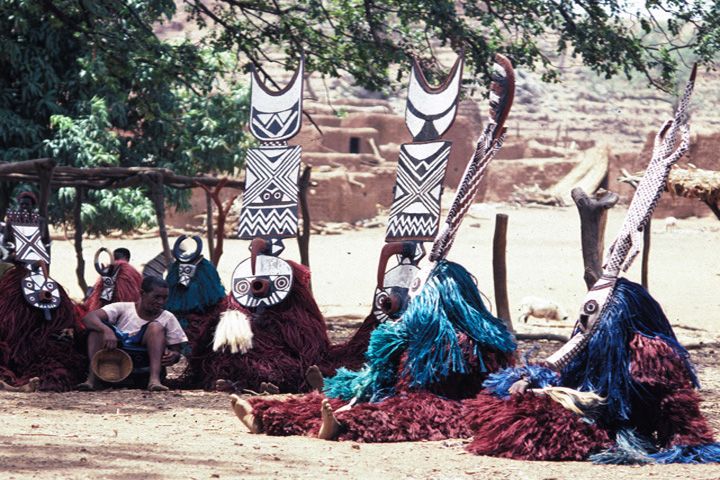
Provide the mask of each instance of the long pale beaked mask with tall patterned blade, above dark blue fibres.
POLYGON ((546 360, 548 366, 554 370, 562 370, 567 366, 578 352, 585 348, 597 329, 598 319, 612 298, 618 276, 621 271, 627 271, 640 251, 642 231, 647 226, 662 195, 670 168, 690 147, 687 110, 695 86, 696 72, 697 66, 694 66, 680 105, 675 112, 675 118, 665 122, 655 137, 650 163, 630 202, 620 233, 605 256, 602 275, 585 296, 579 319, 575 324, 574 335, 546 360))

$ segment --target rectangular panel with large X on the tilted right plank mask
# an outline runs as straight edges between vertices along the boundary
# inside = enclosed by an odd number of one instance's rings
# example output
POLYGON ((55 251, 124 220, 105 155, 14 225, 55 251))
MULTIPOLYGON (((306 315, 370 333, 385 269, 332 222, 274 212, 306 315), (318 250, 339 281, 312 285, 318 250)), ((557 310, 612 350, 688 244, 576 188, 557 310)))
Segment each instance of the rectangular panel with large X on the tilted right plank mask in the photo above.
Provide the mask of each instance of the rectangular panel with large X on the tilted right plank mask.
POLYGON ((395 198, 385 241, 432 240, 440 221, 440 197, 451 142, 400 147, 395 198))

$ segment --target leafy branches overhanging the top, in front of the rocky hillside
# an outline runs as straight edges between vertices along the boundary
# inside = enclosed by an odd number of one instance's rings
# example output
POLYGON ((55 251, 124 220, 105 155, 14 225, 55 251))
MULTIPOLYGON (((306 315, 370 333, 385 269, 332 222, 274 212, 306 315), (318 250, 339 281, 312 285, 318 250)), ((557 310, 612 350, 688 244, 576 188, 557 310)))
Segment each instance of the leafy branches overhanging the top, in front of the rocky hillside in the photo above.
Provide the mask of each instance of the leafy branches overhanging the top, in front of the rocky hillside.
POLYGON ((712 63, 720 47, 718 2, 685 0, 186 0, 202 26, 221 28, 214 42, 255 67, 283 50, 292 67, 304 51, 309 71, 351 73, 369 89, 387 87, 410 56, 437 69, 438 46, 464 49, 475 81, 485 85, 496 52, 516 66, 557 80, 559 54, 581 59, 605 78, 639 72, 672 87, 682 58, 712 63), (689 41, 686 33, 691 32, 689 41), (657 41, 658 34, 662 41, 657 41), (685 38, 683 38, 685 37, 685 38), (682 55, 681 55, 682 54, 682 55), (683 57, 684 56, 684 57, 683 57), (398 68, 399 67, 399 68, 398 68))

